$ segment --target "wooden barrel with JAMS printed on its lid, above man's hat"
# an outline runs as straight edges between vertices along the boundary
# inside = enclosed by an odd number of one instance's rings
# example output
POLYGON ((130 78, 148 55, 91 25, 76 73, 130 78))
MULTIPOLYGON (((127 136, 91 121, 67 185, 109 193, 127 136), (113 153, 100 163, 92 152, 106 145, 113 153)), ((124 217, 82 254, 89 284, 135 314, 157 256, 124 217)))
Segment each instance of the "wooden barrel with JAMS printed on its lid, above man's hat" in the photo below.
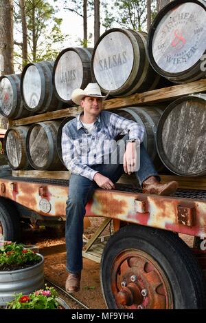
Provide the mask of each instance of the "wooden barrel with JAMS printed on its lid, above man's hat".
POLYGON ((56 96, 62 102, 73 104, 71 93, 91 83, 91 54, 93 48, 66 48, 54 63, 53 84, 56 96))

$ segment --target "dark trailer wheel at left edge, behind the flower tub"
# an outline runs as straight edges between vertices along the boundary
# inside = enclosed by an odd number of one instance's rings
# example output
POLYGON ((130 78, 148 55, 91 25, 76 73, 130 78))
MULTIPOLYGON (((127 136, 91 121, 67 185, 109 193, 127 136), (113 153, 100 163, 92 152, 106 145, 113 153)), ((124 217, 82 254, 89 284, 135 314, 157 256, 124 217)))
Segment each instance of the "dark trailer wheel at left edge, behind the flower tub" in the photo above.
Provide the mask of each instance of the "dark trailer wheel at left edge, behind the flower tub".
POLYGON ((0 198, 0 240, 19 241, 20 233, 19 213, 14 203, 0 198))

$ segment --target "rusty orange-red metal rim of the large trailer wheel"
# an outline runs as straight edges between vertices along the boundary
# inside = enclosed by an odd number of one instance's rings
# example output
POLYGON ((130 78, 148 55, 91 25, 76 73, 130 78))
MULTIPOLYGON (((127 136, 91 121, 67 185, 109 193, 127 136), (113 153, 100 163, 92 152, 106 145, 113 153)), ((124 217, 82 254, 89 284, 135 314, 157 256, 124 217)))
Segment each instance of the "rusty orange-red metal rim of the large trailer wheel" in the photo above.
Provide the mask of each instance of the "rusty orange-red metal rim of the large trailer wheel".
POLYGON ((113 263, 111 288, 119 309, 172 309, 172 291, 159 264, 144 251, 129 249, 113 263))

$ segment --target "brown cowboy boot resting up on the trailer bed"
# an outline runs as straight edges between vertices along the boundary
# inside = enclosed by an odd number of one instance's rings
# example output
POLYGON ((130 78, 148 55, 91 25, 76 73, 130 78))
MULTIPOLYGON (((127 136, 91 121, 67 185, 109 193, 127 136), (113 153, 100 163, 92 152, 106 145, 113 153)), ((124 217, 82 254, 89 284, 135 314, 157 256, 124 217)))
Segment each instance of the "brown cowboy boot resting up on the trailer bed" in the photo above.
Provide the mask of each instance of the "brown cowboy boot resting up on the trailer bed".
POLYGON ((150 176, 144 181, 142 192, 146 194, 170 195, 176 191, 177 187, 178 183, 174 180, 167 184, 161 184, 155 176, 150 176))

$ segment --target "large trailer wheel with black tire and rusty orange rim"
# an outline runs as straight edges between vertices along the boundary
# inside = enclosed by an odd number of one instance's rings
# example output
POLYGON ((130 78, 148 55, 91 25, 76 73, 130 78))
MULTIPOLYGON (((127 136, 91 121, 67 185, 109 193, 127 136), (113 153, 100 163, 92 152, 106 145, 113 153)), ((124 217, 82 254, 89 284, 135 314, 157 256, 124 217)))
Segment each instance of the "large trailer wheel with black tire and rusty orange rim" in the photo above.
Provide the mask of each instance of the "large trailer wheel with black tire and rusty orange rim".
POLYGON ((108 240, 100 264, 108 309, 202 309, 203 273, 176 234, 127 225, 108 240))

